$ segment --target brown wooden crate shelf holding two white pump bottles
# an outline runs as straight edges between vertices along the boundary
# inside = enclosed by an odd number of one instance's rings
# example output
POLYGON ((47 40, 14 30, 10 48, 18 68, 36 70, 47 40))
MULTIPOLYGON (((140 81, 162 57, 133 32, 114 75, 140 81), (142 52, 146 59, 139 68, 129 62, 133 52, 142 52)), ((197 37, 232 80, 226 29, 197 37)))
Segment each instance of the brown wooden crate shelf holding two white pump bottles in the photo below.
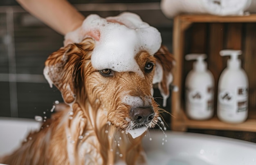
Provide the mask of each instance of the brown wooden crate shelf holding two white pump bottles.
POLYGON ((173 84, 180 90, 172 94, 172 130, 186 131, 192 128, 256 132, 256 15, 179 15, 174 19, 173 55, 176 59, 173 84), (222 49, 243 51, 240 59, 249 78, 249 117, 244 123, 224 123, 216 115, 218 80, 228 59, 220 57, 219 51, 222 49), (215 78, 216 88, 215 115, 212 119, 195 121, 187 118, 184 112, 184 80, 192 69, 192 62, 184 60, 184 55, 188 53, 208 55, 208 68, 215 78))

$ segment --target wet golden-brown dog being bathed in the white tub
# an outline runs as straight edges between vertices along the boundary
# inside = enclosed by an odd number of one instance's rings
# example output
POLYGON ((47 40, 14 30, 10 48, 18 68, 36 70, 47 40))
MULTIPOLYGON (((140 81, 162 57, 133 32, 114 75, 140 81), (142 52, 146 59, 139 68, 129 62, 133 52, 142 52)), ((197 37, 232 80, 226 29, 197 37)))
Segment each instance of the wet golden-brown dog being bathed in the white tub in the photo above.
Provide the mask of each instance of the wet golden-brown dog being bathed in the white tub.
POLYGON ((165 46, 151 55, 140 51, 136 72, 97 70, 91 56, 95 40, 85 38, 49 55, 45 75, 65 104, 37 132, 0 163, 9 165, 142 165, 141 141, 163 110, 153 98, 153 79, 169 94, 173 56, 165 46), (161 70, 160 72, 157 70, 161 70), (161 75, 157 75, 161 74, 161 75))

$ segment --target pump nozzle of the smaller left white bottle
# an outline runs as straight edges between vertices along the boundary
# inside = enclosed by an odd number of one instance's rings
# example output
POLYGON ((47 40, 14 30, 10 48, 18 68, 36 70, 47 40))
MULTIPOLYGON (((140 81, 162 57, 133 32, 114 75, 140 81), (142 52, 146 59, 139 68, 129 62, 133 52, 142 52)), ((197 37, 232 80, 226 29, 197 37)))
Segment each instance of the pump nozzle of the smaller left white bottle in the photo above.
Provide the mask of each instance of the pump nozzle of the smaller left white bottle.
POLYGON ((185 56, 186 60, 193 60, 196 59, 197 62, 194 62, 193 68, 196 71, 204 71, 207 68, 206 62, 204 62, 204 59, 206 59, 206 54, 196 54, 196 53, 191 53, 185 56))

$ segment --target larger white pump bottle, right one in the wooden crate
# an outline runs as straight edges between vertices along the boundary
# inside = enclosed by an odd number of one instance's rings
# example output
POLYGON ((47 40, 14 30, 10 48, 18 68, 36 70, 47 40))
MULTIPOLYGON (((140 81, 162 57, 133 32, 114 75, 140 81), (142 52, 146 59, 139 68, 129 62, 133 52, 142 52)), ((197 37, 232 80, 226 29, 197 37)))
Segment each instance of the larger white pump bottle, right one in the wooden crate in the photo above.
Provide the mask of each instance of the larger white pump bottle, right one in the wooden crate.
POLYGON ((248 77, 241 68, 238 55, 242 51, 222 50, 221 56, 230 55, 227 68, 220 75, 218 83, 217 115, 227 123, 242 123, 248 116, 248 77))

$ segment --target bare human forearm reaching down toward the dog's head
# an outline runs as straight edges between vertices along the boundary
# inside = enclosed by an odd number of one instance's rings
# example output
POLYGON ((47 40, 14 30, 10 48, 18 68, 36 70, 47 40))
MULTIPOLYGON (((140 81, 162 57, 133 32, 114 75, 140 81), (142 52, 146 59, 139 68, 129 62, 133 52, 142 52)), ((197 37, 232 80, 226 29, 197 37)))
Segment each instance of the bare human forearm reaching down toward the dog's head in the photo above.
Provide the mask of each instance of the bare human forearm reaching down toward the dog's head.
POLYGON ((79 28, 85 19, 67 0, 17 0, 17 2, 62 35, 79 28))

